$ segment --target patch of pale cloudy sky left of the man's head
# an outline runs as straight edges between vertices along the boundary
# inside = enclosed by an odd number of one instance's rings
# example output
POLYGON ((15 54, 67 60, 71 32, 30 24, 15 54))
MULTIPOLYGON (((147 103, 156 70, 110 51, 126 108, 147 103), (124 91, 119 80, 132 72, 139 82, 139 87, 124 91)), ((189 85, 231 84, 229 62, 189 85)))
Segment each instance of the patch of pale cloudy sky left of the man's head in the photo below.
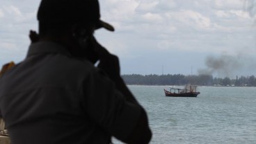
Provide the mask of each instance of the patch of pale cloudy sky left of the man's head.
MULTIPOLYGON (((14 60, 19 62, 29 46, 29 30, 35 29, 35 12, 37 6, 27 7, 28 0, 3 1, 0 6, 0 66, 14 60), (33 8, 34 7, 34 8, 33 8)), ((33 4, 34 1, 31 1, 33 4)), ((35 29, 36 30, 36 29, 35 29)))

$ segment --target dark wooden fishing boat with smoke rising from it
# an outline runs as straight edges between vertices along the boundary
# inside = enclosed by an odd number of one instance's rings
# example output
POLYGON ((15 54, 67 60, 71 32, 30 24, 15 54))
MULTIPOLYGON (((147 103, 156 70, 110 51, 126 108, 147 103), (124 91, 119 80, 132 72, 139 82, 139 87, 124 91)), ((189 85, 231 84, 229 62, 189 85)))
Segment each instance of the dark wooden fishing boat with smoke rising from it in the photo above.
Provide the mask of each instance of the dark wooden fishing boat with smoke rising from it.
POLYGON ((170 88, 170 91, 164 90, 166 96, 173 96, 173 97, 197 97, 200 94, 199 91, 196 91, 195 85, 186 85, 184 89, 175 89, 170 88))

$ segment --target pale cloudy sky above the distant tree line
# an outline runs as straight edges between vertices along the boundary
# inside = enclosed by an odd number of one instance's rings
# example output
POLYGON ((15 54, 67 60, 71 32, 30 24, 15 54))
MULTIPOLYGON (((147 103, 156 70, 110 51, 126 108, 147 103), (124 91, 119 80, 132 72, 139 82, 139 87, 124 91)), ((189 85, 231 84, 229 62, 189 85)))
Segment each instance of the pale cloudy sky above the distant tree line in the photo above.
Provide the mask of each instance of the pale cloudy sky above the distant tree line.
MULTIPOLYGON (((256 75, 253 0, 99 0, 100 44, 122 74, 256 75)), ((26 57, 40 0, 1 0, 0 66, 26 57)))

